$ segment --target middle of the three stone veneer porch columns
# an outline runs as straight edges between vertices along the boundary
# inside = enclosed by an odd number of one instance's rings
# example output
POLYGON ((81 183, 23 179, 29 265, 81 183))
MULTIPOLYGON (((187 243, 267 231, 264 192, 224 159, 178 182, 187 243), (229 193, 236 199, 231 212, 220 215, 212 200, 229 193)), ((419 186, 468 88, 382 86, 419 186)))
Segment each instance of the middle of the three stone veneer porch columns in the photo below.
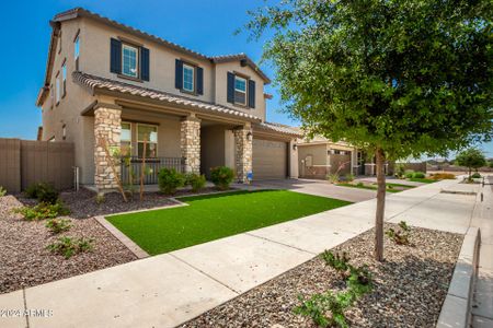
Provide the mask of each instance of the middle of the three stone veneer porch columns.
POLYGON ((186 173, 200 172, 200 119, 187 116, 181 124, 181 150, 186 173))

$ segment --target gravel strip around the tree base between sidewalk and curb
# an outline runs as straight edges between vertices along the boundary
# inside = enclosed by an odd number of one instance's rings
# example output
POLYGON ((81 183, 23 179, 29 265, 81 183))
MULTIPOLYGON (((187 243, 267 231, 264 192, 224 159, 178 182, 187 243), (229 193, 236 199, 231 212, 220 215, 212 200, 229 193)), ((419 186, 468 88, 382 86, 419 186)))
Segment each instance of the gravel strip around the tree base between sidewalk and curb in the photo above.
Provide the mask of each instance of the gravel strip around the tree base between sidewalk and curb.
MULTIPOLYGON (((395 225, 387 224, 386 229, 395 225)), ((463 236, 414 227, 413 246, 385 239, 385 262, 372 259, 374 231, 333 248, 354 266, 368 265, 374 291, 346 312, 352 327, 435 327, 463 236)), ((320 257, 257 286, 181 327, 316 327, 293 308, 305 298, 344 288, 320 257)))

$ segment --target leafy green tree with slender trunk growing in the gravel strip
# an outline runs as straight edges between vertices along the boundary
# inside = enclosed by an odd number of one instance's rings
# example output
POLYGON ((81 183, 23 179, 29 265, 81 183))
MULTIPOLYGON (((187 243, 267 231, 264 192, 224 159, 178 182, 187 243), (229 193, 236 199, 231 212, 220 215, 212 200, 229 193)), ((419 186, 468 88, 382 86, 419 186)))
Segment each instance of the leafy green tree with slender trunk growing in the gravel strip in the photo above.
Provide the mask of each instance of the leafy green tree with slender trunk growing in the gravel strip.
POLYGON ((491 140, 492 12, 488 0, 284 0, 250 12, 285 110, 310 134, 376 155, 378 260, 385 161, 491 140))

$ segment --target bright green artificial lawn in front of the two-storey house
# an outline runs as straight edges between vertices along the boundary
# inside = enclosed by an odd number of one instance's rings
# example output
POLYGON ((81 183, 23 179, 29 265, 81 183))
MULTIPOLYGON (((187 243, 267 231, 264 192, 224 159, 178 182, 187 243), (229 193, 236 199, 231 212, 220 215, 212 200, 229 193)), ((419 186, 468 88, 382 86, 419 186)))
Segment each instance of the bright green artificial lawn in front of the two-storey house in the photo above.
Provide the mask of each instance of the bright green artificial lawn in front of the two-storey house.
POLYGON ((106 216, 150 255, 167 253, 349 204, 287 190, 180 199, 187 207, 106 216))

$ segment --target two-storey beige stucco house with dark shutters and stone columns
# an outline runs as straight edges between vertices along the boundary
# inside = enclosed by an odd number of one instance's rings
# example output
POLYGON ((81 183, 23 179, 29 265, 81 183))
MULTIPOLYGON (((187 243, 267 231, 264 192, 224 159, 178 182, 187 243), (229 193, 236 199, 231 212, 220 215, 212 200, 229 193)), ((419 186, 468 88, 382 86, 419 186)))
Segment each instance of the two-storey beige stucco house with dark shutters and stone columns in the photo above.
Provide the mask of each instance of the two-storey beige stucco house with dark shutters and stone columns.
POLYGON ((145 142, 149 184, 160 167, 297 177, 301 134, 265 121, 271 81, 246 55, 208 57, 81 8, 50 25, 42 140, 74 143, 81 184, 115 188, 103 145, 131 155, 135 174, 145 142))

